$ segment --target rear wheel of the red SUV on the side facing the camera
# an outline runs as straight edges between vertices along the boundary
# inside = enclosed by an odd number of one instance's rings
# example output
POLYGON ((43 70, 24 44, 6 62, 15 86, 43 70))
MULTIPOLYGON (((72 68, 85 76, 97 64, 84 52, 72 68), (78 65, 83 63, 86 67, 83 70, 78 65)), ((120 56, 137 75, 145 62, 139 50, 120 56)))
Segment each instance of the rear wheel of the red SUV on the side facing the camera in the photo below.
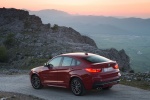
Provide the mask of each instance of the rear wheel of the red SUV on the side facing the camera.
POLYGON ((76 96, 81 96, 85 94, 85 88, 82 81, 79 78, 73 78, 70 83, 71 91, 76 96))

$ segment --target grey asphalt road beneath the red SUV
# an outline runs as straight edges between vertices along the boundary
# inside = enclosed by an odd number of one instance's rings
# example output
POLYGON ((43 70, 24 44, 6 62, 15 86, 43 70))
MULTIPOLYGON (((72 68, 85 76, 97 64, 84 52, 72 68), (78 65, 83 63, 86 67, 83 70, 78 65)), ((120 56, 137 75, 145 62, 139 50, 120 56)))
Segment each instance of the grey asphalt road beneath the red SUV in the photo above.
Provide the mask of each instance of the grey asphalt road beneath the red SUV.
POLYGON ((120 84, 110 90, 92 90, 84 96, 74 96, 68 89, 54 87, 35 90, 29 75, 0 75, 0 91, 34 95, 46 100, 150 100, 150 91, 120 84))

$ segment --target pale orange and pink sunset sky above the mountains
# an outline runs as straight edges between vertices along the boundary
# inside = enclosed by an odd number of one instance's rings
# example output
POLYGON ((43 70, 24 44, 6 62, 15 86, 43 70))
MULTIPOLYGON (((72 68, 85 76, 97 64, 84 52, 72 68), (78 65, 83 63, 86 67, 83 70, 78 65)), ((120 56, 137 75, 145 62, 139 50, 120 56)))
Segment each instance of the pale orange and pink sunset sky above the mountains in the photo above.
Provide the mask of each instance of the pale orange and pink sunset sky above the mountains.
POLYGON ((150 18, 150 0, 0 0, 0 8, 56 9, 70 14, 150 18))

